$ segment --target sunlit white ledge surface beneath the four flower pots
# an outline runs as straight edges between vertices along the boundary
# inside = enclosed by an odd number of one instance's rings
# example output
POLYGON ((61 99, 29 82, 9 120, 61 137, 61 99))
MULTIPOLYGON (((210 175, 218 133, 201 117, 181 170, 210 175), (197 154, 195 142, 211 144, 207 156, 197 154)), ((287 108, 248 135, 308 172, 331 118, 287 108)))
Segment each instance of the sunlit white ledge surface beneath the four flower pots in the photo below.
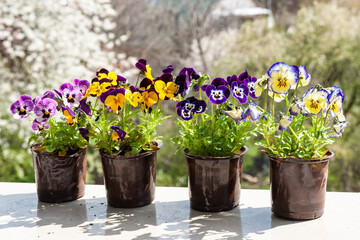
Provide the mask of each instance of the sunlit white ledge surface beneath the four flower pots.
POLYGON ((289 221, 271 213, 268 190, 241 190, 228 212, 190 209, 187 188, 158 187, 153 204, 107 206, 105 188, 87 185, 73 202, 38 202, 35 184, 0 183, 0 239, 360 239, 360 193, 327 193, 325 214, 289 221))

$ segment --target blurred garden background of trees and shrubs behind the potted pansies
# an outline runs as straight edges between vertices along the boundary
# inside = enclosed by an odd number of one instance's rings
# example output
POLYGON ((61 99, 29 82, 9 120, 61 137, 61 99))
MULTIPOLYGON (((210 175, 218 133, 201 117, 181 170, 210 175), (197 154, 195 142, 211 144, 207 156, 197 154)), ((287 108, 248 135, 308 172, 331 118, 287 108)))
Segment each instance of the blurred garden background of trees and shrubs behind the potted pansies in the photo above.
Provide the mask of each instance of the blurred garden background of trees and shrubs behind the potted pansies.
MULTIPOLYGON (((172 64, 212 78, 261 77, 278 61, 305 65, 313 86, 341 86, 349 121, 331 150, 328 190, 360 191, 360 1, 358 0, 1 0, 0 181, 34 182, 27 145, 31 123, 9 106, 74 78, 107 68, 136 80, 145 58, 153 76, 172 64)), ((157 185, 187 186, 184 154, 170 138, 173 115, 159 128, 157 185)), ((269 188, 267 158, 249 142, 244 188, 269 188)), ((87 183, 102 184, 97 150, 89 149, 87 183)))

